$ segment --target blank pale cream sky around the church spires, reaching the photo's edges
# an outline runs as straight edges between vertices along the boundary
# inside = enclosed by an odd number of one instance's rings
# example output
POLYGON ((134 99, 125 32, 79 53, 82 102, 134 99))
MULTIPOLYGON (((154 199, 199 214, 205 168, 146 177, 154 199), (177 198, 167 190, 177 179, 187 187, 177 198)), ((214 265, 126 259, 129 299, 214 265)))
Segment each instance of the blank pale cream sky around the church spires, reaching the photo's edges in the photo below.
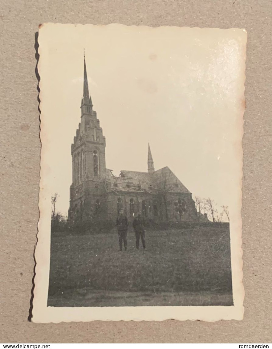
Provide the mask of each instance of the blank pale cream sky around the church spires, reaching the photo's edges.
MULTIPOLYGON (((106 167, 168 166, 194 195, 241 201, 246 34, 239 29, 46 24, 39 33, 41 168, 67 214, 81 117, 83 51, 106 167)), ((238 206, 237 206, 238 205, 238 206)))

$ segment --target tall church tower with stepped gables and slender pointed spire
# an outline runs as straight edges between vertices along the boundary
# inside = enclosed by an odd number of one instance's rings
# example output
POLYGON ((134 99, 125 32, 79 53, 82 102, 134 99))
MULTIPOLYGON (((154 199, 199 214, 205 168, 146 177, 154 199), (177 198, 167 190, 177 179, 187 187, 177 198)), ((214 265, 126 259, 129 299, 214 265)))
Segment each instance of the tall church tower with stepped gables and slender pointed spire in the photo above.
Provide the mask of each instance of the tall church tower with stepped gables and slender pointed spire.
POLYGON ((83 76, 81 121, 71 145, 73 183, 68 214, 69 218, 79 217, 81 220, 93 215, 102 206, 106 177, 106 140, 89 94, 85 54, 83 76))

